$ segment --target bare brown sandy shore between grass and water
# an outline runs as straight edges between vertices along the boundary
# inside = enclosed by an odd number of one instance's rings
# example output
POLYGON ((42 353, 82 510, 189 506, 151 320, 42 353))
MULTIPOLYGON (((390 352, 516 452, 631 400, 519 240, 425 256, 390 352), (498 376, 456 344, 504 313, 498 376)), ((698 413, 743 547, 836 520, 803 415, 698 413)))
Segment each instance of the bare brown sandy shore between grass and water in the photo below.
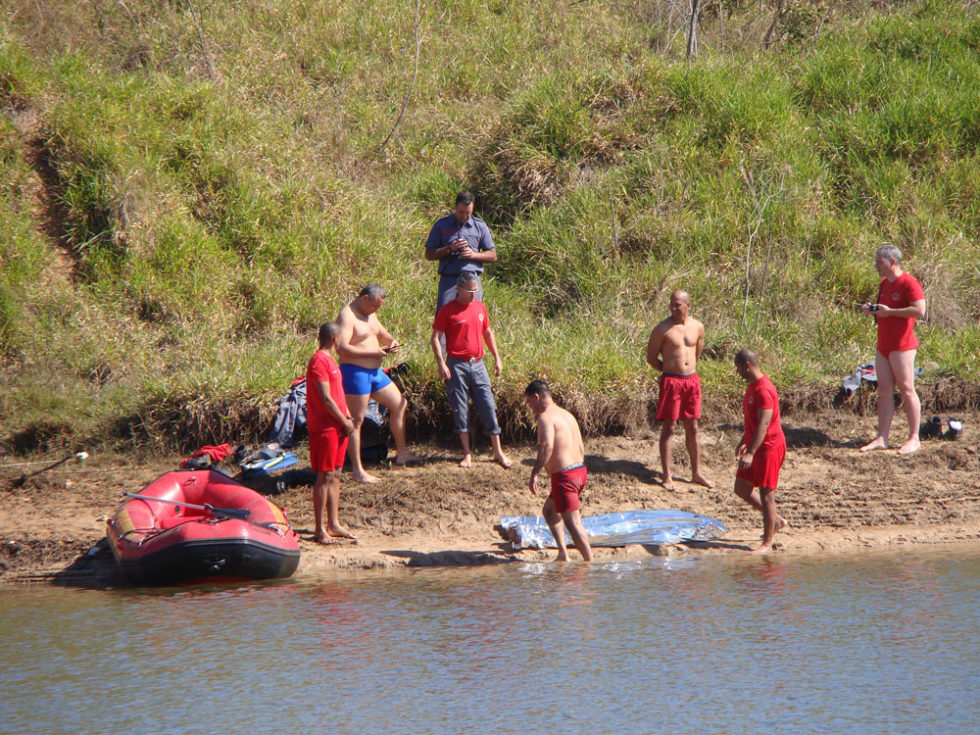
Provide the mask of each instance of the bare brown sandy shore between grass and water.
MULTIPOLYGON (((778 536, 775 553, 823 554, 900 546, 980 542, 980 414, 963 416, 956 441, 931 440, 910 457, 894 450, 861 454, 873 418, 827 412, 787 417, 789 451, 777 494, 792 528, 778 536)), ((897 419, 901 420, 901 419, 897 419)), ((899 427, 901 428, 901 424, 899 427)), ((676 489, 659 484, 656 436, 587 441, 586 515, 673 508, 717 518, 730 531, 710 543, 670 548, 599 549, 597 558, 746 553, 757 543, 759 516, 732 492, 732 453, 740 426, 702 427, 703 463, 712 489, 683 481, 689 467, 675 439, 676 489)), ((305 447, 297 453, 303 457, 305 447)), ((299 579, 389 572, 427 566, 466 566, 551 559, 554 551, 514 552, 494 526, 505 515, 537 515, 543 497, 526 482, 534 447, 507 447, 510 470, 490 462, 478 445, 475 466, 456 466, 456 447, 423 445, 423 466, 380 468, 379 485, 357 485, 344 476, 341 519, 357 544, 324 547, 310 540, 309 488, 275 497, 300 531, 299 579)), ((32 458, 54 461, 60 457, 32 458)), ((0 463, 0 584, 53 582, 105 587, 122 584, 105 548, 105 520, 123 491, 135 491, 176 467, 179 457, 99 456, 18 482, 43 467, 0 463)))

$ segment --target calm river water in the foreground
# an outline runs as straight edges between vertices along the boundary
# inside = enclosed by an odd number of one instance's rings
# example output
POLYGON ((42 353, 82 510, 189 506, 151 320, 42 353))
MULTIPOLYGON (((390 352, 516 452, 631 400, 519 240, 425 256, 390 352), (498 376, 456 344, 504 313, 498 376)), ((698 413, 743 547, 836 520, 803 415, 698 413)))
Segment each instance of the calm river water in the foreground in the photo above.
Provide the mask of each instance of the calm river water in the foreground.
POLYGON ((3 733, 976 733, 980 552, 0 590, 3 733))

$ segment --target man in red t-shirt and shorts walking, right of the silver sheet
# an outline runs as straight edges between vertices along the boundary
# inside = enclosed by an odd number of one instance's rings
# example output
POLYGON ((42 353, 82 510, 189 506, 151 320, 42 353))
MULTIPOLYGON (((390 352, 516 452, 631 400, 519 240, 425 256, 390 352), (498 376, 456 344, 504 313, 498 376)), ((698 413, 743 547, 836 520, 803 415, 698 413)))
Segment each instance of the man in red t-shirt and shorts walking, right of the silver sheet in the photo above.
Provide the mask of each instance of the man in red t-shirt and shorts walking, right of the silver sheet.
POLYGON ((745 430, 735 451, 735 494, 762 512, 762 545, 755 550, 762 553, 772 551, 776 532, 786 527, 786 521, 776 512, 775 498, 779 469, 786 458, 786 437, 779 423, 776 387, 762 374, 755 353, 739 351, 735 370, 749 384, 742 398, 745 430))

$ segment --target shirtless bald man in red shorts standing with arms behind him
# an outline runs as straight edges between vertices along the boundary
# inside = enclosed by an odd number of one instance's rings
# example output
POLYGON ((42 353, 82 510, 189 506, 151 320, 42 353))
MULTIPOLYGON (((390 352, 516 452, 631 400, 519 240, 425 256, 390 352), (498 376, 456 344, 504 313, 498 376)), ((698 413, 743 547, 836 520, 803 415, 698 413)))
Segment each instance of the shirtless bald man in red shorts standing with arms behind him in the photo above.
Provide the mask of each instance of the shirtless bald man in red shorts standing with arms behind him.
POLYGON ((670 316, 653 328, 647 342, 647 362, 660 371, 660 399, 657 421, 660 429, 660 464, 663 486, 674 489, 670 473, 670 441, 674 423, 684 422, 687 453, 691 458, 691 482, 705 487, 714 483, 701 474, 701 446, 698 442, 698 419, 701 418, 701 378, 697 363, 704 347, 704 325, 687 315, 691 297, 687 291, 670 295, 670 316))

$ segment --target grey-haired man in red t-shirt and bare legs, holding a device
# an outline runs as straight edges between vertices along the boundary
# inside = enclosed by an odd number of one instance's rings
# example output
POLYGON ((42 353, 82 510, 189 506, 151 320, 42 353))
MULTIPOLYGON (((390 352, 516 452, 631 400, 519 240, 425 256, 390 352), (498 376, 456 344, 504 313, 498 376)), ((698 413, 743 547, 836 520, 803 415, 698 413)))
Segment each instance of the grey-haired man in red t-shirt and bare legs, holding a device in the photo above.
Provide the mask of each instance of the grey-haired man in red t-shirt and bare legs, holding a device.
POLYGON ((875 372, 878 375, 878 436, 861 447, 862 452, 888 448, 888 431, 895 416, 895 389, 909 420, 909 438, 898 450, 911 454, 919 448, 919 419, 922 414, 915 392, 915 320, 926 315, 922 284, 902 271, 902 251, 890 243, 875 251, 875 268, 881 276, 877 303, 862 304, 861 311, 878 322, 875 372))

